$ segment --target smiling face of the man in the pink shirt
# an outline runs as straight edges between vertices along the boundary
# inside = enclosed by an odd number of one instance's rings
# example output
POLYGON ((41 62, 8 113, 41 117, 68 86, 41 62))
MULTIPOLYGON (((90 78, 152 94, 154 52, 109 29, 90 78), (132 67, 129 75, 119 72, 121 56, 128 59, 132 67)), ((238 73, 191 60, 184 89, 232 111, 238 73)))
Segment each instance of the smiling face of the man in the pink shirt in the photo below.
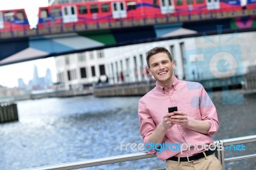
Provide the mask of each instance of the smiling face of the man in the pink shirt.
POLYGON ((172 75, 175 65, 173 61, 170 61, 166 53, 161 52, 151 56, 149 65, 148 72, 155 77, 159 84, 163 86, 163 84, 169 84, 173 81, 172 75))

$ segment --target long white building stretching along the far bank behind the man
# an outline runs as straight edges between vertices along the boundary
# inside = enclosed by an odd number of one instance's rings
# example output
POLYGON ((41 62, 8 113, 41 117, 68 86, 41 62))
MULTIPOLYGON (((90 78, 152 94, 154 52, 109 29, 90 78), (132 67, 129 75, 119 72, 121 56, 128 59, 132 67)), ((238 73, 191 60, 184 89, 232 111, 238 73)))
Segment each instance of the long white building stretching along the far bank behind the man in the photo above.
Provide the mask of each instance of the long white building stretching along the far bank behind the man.
POLYGON ((156 46, 170 50, 179 79, 206 81, 209 86, 239 84, 249 66, 256 65, 250 43, 255 38, 254 32, 198 36, 59 56, 58 88, 82 89, 102 82, 103 76, 109 84, 149 81, 153 77, 147 73, 146 52, 156 46), (218 84, 223 79, 227 81, 218 84))

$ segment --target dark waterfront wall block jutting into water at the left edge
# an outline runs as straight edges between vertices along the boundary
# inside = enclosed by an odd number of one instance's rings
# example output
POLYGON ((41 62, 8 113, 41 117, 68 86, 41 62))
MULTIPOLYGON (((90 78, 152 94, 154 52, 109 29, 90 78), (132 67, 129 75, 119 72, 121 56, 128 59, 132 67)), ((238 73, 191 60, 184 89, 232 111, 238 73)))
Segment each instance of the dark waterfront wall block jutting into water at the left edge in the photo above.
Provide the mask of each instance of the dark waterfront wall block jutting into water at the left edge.
POLYGON ((0 123, 18 120, 17 104, 10 102, 3 102, 0 104, 0 123))

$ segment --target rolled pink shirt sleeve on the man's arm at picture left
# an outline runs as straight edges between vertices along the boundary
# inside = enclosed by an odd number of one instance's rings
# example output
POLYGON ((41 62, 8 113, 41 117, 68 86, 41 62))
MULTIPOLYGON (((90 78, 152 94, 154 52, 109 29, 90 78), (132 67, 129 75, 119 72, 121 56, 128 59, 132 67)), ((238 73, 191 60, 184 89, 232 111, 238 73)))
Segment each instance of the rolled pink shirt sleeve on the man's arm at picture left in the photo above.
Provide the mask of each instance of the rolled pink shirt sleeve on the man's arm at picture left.
MULTIPOLYGON (((140 134, 143 138, 144 145, 147 143, 150 143, 148 136, 154 132, 156 129, 156 125, 154 123, 154 120, 152 119, 152 116, 150 115, 150 112, 145 106, 145 103, 140 100, 139 106, 138 106, 138 114, 139 114, 139 120, 140 120, 140 134)), ((156 150, 147 150, 147 153, 154 154, 156 153, 156 150)))

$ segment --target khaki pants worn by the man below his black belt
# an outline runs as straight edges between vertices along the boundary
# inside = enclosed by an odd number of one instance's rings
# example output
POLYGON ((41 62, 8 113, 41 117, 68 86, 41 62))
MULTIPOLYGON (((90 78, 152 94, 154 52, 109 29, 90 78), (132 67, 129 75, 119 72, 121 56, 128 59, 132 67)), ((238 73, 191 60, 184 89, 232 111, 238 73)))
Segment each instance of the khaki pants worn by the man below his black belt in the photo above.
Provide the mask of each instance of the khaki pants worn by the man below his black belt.
POLYGON ((215 155, 209 155, 193 162, 166 160, 166 170, 222 170, 222 166, 215 155))

